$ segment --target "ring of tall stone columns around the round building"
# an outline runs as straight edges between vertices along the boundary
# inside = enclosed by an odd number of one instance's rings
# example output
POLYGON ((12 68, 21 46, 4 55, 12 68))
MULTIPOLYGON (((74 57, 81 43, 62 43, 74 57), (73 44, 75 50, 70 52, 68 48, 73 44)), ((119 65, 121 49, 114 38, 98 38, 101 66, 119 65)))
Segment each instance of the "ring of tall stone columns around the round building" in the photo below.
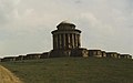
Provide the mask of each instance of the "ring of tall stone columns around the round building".
POLYGON ((53 34, 53 50, 65 50, 80 48, 80 34, 55 33, 53 34))

